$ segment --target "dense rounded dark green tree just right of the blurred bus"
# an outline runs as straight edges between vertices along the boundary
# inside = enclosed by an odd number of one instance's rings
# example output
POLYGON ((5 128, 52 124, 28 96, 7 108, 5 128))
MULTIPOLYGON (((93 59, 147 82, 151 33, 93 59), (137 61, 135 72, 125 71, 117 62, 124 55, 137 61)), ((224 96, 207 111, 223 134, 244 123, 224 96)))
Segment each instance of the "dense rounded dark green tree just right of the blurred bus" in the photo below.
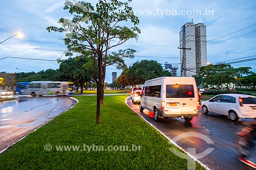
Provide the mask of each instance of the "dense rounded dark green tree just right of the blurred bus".
POLYGON ((59 65, 61 78, 74 82, 76 87, 79 84, 81 93, 83 93, 83 84, 92 80, 91 68, 86 66, 88 62, 89 60, 87 58, 80 56, 69 58, 68 60, 61 60, 59 65))

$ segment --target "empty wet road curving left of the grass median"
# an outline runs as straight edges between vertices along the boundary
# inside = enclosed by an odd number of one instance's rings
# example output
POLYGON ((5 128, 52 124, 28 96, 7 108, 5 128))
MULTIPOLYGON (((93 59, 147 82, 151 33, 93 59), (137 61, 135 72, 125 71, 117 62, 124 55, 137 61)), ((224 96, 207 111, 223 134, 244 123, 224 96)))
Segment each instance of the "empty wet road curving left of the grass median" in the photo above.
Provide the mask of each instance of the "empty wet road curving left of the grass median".
POLYGON ((0 153, 76 104, 69 97, 22 97, 0 104, 0 153))

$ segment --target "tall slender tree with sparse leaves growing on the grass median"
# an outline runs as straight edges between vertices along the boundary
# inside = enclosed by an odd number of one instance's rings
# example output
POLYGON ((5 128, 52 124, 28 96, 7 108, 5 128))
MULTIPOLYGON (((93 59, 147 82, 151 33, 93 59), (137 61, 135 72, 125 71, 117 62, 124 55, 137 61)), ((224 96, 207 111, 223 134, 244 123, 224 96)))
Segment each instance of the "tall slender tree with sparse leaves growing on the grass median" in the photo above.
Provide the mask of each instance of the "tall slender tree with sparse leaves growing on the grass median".
MULTIPOLYGON (((64 38, 68 48, 67 56, 71 56, 72 53, 83 54, 87 50, 93 53, 93 78, 97 84, 96 124, 99 124, 100 104, 103 104, 105 69, 108 61, 111 63, 109 60, 111 55, 108 52, 131 38, 137 39, 140 34, 140 29, 136 27, 139 19, 129 7, 132 0, 127 1, 99 0, 96 9, 91 3, 73 4, 66 1, 64 9, 74 15, 73 19, 60 18, 61 28, 47 28, 49 32, 69 32, 64 38), (128 21, 134 26, 131 28, 124 26, 124 23, 127 25, 128 21)), ((112 53, 112 57, 116 56, 116 59, 133 57, 133 52, 131 50, 119 51, 117 54, 112 53)), ((114 62, 121 63, 120 60, 114 62)))

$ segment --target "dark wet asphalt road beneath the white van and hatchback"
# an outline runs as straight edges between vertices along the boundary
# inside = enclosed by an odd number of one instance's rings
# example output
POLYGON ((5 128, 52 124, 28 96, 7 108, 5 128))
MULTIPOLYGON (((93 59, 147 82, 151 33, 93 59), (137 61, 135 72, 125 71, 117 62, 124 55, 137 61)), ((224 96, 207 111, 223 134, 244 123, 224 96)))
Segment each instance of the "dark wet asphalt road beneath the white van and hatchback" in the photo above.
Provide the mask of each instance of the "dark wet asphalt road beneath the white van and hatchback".
MULTIPOLYGON (((127 100, 127 104, 141 115, 147 122, 151 123, 158 130, 168 136, 170 139, 177 141, 176 143, 189 154, 195 156, 200 162, 205 164, 209 169, 253 169, 238 160, 238 152, 234 149, 234 137, 236 132, 240 132, 245 126, 244 122, 252 121, 252 119, 242 119, 238 122, 232 122, 228 118, 217 113, 205 115, 200 113, 194 117, 191 122, 185 122, 182 118, 164 118, 160 122, 155 122, 153 113, 139 110, 139 104, 133 104, 131 98, 127 100), (196 137, 184 137, 177 139, 175 137, 189 132, 187 134, 196 133, 196 137), (205 139, 205 140, 203 140, 205 139), (210 142, 210 139, 213 143, 210 142), (196 153, 189 152, 189 148, 196 148, 196 153), (198 158, 200 153, 210 151, 208 155, 198 158)), ((194 136, 194 135, 193 135, 194 136)))

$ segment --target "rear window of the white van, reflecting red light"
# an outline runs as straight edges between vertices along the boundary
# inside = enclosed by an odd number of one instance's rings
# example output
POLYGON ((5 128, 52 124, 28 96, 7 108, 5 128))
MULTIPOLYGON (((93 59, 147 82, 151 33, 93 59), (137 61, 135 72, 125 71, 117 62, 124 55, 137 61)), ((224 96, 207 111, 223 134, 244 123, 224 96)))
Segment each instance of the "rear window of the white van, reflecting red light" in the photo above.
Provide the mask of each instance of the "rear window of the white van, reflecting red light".
POLYGON ((193 85, 166 85, 166 98, 195 98, 193 85))

